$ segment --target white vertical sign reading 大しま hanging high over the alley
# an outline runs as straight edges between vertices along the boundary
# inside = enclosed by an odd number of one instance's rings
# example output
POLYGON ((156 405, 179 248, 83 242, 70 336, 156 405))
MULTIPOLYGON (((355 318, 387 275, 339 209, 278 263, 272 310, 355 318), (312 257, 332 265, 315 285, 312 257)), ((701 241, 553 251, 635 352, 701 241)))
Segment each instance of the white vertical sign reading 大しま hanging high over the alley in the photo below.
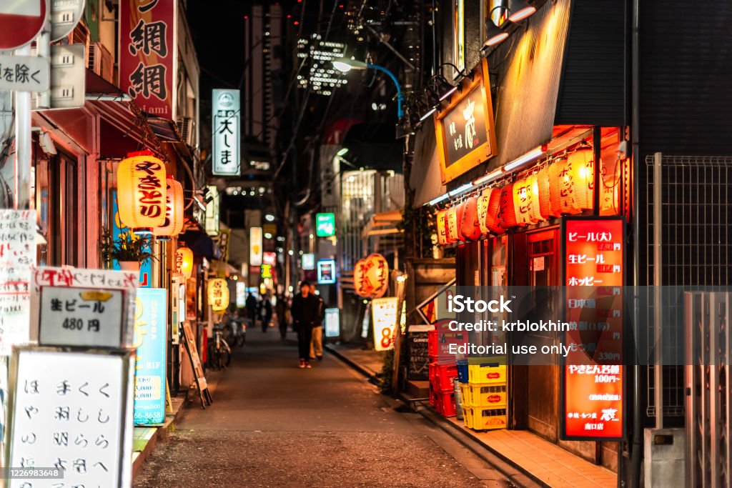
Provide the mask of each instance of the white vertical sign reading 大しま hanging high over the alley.
POLYGON ((214 89, 211 100, 213 173, 216 176, 239 176, 239 90, 214 89))

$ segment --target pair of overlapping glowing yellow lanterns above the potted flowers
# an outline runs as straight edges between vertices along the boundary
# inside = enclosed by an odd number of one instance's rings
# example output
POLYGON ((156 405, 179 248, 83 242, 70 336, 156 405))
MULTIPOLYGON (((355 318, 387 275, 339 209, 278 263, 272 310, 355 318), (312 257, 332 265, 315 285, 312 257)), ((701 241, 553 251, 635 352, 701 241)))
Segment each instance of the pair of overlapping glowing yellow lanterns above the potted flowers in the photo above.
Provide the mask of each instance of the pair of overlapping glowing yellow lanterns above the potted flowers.
POLYGON ((120 221, 133 233, 170 240, 183 230, 183 186, 152 154, 131 154, 119 162, 117 205, 120 221))

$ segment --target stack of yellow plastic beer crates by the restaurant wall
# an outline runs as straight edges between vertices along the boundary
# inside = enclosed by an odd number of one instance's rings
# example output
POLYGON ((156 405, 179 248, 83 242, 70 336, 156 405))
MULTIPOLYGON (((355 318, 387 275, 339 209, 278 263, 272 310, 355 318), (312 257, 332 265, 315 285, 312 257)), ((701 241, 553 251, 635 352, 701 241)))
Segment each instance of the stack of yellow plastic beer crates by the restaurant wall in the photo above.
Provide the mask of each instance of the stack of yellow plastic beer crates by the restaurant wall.
MULTIPOLYGON (((508 378, 503 358, 468 358, 467 383, 460 375, 463 422, 475 430, 504 429, 508 424, 508 378)), ((461 369, 465 366, 459 365, 461 369)))

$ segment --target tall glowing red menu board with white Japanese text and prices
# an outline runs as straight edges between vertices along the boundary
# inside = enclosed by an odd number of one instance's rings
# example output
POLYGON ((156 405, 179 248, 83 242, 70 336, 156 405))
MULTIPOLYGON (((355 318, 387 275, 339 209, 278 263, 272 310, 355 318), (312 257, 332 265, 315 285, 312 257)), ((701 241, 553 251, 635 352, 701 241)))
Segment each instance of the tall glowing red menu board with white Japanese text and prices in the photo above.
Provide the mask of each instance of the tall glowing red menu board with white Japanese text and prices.
POLYGON ((624 219, 566 217, 565 313, 572 347, 563 368, 565 440, 617 440, 624 432, 624 219))

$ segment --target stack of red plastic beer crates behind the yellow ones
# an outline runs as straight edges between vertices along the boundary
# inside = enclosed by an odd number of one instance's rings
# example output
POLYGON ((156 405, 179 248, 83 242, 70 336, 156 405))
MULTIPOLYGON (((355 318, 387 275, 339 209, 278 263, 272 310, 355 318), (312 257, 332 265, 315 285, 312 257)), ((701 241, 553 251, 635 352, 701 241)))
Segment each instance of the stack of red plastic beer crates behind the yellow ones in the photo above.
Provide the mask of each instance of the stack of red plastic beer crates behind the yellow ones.
POLYGON ((430 405, 446 417, 455 416, 455 388, 453 380, 458 377, 455 355, 449 353, 450 344, 464 344, 466 332, 449 332, 436 327, 430 331, 427 350, 430 356, 430 405))

